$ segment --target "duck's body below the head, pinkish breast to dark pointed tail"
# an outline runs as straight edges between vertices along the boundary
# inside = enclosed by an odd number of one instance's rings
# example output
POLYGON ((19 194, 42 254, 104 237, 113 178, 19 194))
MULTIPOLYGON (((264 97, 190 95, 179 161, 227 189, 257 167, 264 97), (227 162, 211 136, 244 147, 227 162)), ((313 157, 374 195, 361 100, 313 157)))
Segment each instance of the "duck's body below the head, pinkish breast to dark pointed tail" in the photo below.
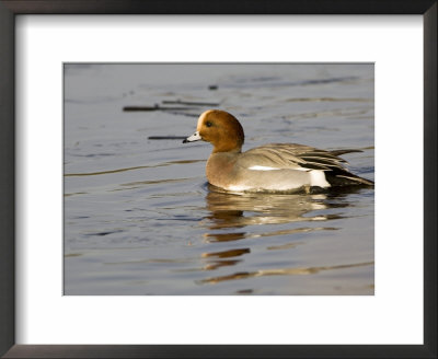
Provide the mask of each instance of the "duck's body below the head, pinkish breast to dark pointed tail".
POLYGON ((214 153, 207 177, 230 190, 293 190, 302 187, 372 185, 349 173, 338 154, 358 150, 324 151, 297 143, 269 143, 243 153, 214 153))

